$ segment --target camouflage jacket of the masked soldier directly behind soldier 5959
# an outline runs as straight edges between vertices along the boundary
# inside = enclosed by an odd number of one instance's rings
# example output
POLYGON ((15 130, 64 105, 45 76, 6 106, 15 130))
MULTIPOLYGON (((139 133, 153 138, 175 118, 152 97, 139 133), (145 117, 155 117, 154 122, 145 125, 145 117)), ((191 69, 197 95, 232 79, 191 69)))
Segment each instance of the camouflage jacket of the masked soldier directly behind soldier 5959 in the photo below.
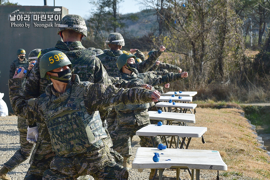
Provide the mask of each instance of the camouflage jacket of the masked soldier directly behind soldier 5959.
MULTIPOLYGON (((160 85, 160 84, 166 84, 168 82, 174 82, 181 78, 180 73, 169 73, 164 76, 161 75, 155 75, 155 74, 146 74, 146 73, 138 73, 133 72, 132 74, 126 74, 120 71, 117 71, 118 75, 121 76, 124 80, 131 80, 131 79, 138 79, 143 84, 150 84, 152 86, 160 85)), ((118 105, 116 106, 116 119, 117 119, 117 125, 134 125, 136 122, 138 125, 144 125, 150 123, 149 114, 148 114, 148 108, 142 108, 144 106, 140 106, 137 109, 134 110, 127 110, 127 106, 129 105, 118 105), (121 111, 121 109, 125 109, 121 111)), ((133 107, 134 108, 134 107, 133 107)))

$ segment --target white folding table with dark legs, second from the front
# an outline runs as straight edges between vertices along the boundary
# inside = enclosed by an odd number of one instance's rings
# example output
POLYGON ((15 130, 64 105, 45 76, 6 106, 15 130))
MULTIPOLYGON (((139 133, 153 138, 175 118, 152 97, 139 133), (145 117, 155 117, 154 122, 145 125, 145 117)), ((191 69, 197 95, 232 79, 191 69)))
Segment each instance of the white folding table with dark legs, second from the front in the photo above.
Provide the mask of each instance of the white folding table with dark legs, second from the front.
POLYGON ((188 148, 188 145, 190 144, 191 138, 202 138, 202 142, 204 143, 203 134, 207 131, 207 127, 196 127, 196 126, 172 126, 172 125, 162 125, 158 126, 155 124, 149 124, 147 126, 144 126, 143 128, 136 131, 136 135, 138 136, 151 136, 151 141, 153 147, 154 141, 153 136, 162 136, 165 139, 167 147, 171 147, 172 140, 170 142, 170 146, 168 145, 168 141, 166 139, 166 136, 172 136, 172 139, 174 138, 174 144, 177 148, 184 148, 185 139, 187 138, 188 142, 185 145, 186 149, 188 148), (175 139, 175 136, 177 136, 177 142, 175 139), (182 137, 182 142, 180 141, 180 137, 182 137), (181 143, 179 147, 179 143, 181 143))

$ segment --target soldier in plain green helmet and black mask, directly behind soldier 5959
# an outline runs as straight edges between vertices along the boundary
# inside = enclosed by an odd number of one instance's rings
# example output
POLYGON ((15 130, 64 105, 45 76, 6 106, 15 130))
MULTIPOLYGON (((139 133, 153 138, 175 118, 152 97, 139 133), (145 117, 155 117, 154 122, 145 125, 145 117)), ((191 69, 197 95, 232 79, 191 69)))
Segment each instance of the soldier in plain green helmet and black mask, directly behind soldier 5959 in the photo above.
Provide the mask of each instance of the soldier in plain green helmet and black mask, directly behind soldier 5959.
MULTIPOLYGON (((165 47, 163 51, 165 50, 165 47)), ((151 85, 160 85, 168 82, 177 81, 188 76, 187 72, 181 74, 169 73, 167 75, 154 75, 146 73, 138 73, 135 63, 136 56, 125 53, 119 56, 117 59, 117 66, 119 68, 118 74, 123 79, 129 81, 131 79, 137 79, 141 83, 147 83, 151 85), (135 66, 134 66, 135 65, 135 66)), ((144 126, 150 124, 148 114, 149 103, 137 104, 137 105, 123 105, 119 104, 115 106, 117 126, 114 131, 110 133, 113 141, 113 149, 121 154, 125 144, 131 135, 135 135, 135 132, 144 126)), ((152 147, 151 139, 149 136, 140 136, 140 145, 142 147, 152 147)), ((154 144, 157 147, 160 144, 160 139, 154 138, 154 144)), ((153 170, 151 170, 152 172, 153 170)), ((153 178, 153 172, 150 174, 149 179, 153 178)))

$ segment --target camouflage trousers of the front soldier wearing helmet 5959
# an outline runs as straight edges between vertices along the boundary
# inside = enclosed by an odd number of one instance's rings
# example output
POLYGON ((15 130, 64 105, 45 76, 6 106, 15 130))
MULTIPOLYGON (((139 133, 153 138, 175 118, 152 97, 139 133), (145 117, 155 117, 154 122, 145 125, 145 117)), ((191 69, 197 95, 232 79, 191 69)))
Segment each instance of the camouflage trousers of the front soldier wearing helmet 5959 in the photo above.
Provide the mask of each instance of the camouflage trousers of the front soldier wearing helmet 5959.
POLYGON ((43 180, 72 180, 83 175, 91 175, 96 180, 124 180, 129 177, 127 170, 113 160, 110 150, 102 148, 68 158, 55 156, 50 169, 44 172, 43 180))

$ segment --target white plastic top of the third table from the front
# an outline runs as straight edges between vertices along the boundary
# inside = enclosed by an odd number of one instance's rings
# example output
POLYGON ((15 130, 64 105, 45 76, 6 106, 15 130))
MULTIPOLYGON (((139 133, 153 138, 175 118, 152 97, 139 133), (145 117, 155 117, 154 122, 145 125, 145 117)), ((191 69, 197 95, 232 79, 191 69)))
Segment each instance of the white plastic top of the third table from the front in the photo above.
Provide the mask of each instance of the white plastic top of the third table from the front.
POLYGON ((157 111, 148 111, 149 118, 151 120, 171 120, 176 122, 188 122, 195 123, 195 114, 187 114, 187 113, 178 113, 178 112, 162 112, 158 113, 157 111))

